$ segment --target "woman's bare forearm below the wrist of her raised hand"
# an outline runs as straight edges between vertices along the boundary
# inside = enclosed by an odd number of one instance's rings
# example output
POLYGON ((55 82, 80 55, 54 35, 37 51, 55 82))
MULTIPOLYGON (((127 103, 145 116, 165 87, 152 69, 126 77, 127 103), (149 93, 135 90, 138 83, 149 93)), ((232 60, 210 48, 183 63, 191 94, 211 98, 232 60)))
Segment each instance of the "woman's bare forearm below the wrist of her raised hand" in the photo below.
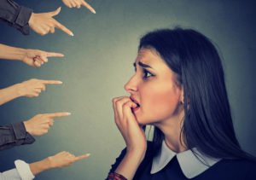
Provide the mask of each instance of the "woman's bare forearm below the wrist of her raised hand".
POLYGON ((133 154, 127 153, 115 172, 126 177, 128 180, 131 180, 134 177, 138 166, 143 161, 143 158, 144 154, 139 154, 137 152, 133 154))

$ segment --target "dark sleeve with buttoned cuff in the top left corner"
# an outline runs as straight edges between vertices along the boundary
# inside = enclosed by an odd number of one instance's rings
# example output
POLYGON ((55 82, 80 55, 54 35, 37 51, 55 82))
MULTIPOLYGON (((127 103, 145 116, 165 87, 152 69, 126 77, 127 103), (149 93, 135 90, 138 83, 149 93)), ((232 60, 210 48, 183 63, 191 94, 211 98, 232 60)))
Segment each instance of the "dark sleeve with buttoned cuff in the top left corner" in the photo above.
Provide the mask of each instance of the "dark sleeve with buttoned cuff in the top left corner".
POLYGON ((18 29, 23 34, 29 34, 28 20, 32 9, 20 6, 12 0, 0 0, 0 20, 18 29))

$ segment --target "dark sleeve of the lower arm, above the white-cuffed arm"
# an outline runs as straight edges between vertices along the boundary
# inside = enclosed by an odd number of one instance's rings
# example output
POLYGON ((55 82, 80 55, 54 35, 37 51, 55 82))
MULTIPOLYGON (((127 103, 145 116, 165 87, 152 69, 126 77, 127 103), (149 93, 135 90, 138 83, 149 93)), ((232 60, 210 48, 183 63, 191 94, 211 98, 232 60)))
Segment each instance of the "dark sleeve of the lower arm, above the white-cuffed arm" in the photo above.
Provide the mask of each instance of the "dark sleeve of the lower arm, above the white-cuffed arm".
POLYGON ((32 142, 35 139, 26 132, 23 122, 0 126, 0 150, 32 142))

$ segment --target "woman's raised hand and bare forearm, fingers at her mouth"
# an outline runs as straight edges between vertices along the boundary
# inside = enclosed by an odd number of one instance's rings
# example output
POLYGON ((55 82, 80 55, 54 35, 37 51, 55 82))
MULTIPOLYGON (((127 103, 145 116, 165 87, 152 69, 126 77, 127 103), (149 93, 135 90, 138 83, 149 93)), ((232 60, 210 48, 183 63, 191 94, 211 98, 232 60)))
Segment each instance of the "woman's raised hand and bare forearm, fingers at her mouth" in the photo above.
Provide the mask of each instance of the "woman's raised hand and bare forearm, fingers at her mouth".
POLYGON ((127 96, 113 98, 113 111, 115 124, 125 139, 126 154, 115 172, 123 175, 127 179, 132 179, 137 167, 144 159, 147 150, 147 140, 145 133, 131 108, 137 107, 127 96))

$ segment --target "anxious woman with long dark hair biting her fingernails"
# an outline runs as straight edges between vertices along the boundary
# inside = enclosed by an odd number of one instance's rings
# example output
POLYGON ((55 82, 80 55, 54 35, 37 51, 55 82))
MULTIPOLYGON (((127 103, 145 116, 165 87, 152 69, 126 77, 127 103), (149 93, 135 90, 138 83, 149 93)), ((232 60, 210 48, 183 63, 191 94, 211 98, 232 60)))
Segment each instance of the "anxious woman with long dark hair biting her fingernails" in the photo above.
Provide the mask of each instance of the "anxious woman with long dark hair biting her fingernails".
POLYGON ((130 97, 113 98, 126 148, 108 179, 255 179, 235 135, 224 72, 211 41, 191 29, 141 38, 130 97), (147 142, 144 125, 154 125, 147 142))

